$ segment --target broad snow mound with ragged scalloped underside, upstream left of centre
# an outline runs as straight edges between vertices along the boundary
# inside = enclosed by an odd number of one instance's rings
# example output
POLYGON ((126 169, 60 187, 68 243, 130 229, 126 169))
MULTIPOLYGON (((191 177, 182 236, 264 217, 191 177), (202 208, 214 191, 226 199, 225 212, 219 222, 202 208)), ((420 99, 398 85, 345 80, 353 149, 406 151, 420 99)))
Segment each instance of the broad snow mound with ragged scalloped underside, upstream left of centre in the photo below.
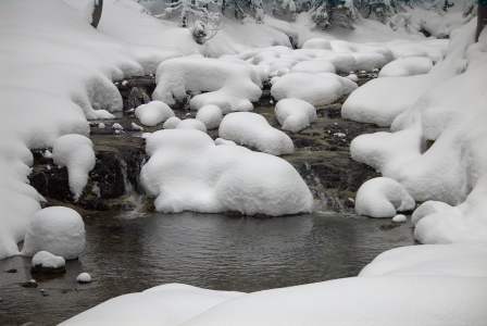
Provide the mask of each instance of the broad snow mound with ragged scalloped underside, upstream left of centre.
POLYGON ((191 92, 197 95, 190 101, 193 110, 215 104, 224 113, 251 111, 262 95, 261 77, 251 65, 196 55, 161 63, 157 83, 154 99, 173 105, 191 92))

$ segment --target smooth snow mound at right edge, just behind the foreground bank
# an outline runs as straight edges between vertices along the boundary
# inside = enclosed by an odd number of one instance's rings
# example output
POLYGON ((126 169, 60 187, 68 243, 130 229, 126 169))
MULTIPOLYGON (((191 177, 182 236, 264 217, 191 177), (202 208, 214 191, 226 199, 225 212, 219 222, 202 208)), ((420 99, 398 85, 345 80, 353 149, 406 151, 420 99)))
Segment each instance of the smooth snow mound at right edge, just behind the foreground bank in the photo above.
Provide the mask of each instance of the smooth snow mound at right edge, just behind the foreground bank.
POLYGON ((485 244, 401 247, 380 253, 360 276, 487 277, 486 254, 485 244))

